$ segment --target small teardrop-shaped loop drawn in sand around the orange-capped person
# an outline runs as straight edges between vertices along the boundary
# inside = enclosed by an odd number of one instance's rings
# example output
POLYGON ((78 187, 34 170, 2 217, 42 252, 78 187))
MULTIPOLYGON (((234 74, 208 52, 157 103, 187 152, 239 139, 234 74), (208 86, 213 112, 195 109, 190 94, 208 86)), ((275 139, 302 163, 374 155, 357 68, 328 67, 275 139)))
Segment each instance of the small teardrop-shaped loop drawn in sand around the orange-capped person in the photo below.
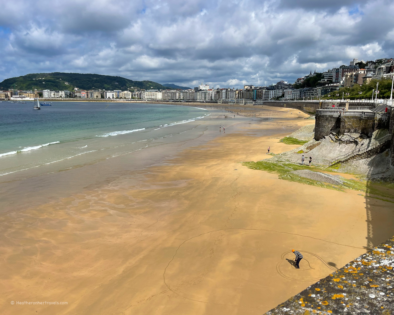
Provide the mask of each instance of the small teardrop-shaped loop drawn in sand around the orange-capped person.
POLYGON ((299 252, 304 256, 299 263, 300 269, 295 267, 295 255, 291 250, 282 254, 276 270, 283 278, 309 282, 320 280, 332 271, 336 271, 336 268, 331 267, 320 256, 306 250, 299 250, 299 252))

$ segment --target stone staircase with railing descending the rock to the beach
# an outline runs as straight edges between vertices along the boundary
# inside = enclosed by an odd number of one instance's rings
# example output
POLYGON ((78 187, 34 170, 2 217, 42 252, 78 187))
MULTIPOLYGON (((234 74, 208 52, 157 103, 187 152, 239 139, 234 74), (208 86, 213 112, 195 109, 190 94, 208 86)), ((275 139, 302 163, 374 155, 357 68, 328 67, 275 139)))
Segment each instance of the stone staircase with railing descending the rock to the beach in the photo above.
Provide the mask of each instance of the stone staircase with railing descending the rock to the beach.
POLYGON ((336 158, 329 161, 329 166, 333 166, 336 163, 344 163, 349 160, 369 158, 379 154, 390 146, 391 137, 392 133, 389 133, 384 137, 372 141, 370 144, 366 145, 365 148, 357 148, 348 154, 337 156, 336 158))

